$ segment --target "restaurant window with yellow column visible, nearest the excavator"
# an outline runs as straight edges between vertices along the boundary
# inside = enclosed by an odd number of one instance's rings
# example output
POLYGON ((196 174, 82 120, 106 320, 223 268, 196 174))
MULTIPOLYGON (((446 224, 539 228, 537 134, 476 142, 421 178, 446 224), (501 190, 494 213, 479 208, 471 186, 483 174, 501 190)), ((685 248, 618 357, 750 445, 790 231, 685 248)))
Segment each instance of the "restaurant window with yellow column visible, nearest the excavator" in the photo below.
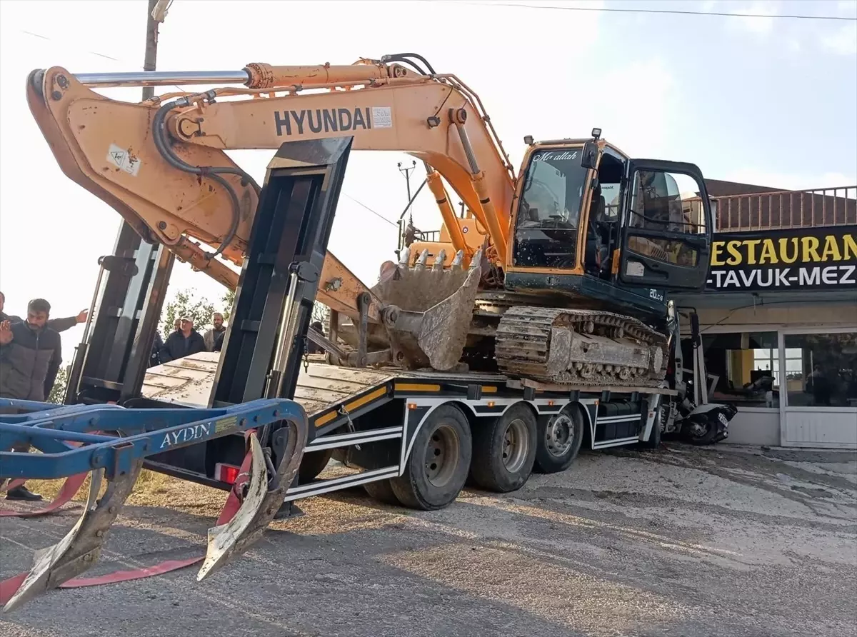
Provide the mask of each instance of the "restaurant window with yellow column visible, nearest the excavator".
MULTIPOLYGON (((710 400, 739 408, 779 407, 782 375, 776 332, 703 334, 703 347, 705 369, 716 376, 710 400)), ((790 369, 788 363, 786 367, 790 369)))

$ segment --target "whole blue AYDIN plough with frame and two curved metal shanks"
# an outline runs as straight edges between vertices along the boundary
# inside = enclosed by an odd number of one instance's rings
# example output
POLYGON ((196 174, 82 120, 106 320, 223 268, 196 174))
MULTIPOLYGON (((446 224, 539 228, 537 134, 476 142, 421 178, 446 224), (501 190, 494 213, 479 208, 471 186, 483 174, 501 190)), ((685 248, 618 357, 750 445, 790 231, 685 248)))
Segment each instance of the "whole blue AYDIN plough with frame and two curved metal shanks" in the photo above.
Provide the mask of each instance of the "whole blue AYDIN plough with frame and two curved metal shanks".
POLYGON ((126 409, 0 400, 0 484, 8 478, 68 478, 85 472, 91 472, 92 478, 77 524, 57 544, 37 551, 29 573, 0 582, 3 611, 62 585, 98 560, 107 532, 147 456, 248 430, 249 488, 234 515, 209 530, 198 580, 254 544, 284 502, 309 432, 302 406, 287 399, 251 400, 220 409, 126 409), (265 440, 261 442, 254 430, 268 430, 265 440), (42 453, 9 451, 19 445, 42 453), (104 480, 107 486, 99 497, 104 480))

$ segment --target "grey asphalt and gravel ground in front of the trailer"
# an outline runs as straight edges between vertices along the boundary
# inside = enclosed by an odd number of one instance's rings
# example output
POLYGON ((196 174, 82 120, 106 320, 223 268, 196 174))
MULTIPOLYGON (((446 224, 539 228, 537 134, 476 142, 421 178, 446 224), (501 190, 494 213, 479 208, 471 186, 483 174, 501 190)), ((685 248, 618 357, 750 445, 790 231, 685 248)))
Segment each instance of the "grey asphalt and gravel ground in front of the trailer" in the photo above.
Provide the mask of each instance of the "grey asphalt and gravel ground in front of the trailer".
MULTIPOLYGON (((204 552, 224 494, 145 491, 88 574, 204 552)), ((362 489, 300 505, 209 580, 192 567, 52 591, 0 634, 844 637, 857 623, 857 454, 668 444, 582 454, 434 513, 362 489)), ((74 519, 0 519, 0 578, 74 519)))

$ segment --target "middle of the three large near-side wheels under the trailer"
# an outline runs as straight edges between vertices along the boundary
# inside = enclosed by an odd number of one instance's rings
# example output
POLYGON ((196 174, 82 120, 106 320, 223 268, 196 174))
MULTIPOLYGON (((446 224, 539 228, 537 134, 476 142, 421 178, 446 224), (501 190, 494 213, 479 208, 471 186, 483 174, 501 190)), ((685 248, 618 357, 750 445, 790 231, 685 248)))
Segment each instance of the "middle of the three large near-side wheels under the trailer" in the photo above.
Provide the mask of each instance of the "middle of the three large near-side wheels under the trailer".
POLYGON ((530 406, 513 405, 473 431, 470 478, 482 489, 508 493, 524 486, 536 461, 538 423, 530 406))

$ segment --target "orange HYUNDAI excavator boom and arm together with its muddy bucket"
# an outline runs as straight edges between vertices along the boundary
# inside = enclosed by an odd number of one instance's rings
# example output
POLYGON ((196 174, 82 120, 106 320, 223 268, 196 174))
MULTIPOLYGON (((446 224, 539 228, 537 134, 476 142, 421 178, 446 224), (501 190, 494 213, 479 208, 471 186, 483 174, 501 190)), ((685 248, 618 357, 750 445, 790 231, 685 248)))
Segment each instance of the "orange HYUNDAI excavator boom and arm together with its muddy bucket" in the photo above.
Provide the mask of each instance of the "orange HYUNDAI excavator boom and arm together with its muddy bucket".
MULTIPOLYGON (((482 261, 503 267, 514 193, 512 165, 464 83, 454 75, 360 60, 317 67, 252 63, 231 74, 243 87, 142 103, 108 99, 91 88, 139 85, 133 75, 123 80, 116 74, 75 76, 60 67, 34 71, 27 101, 69 178, 114 207, 141 237, 165 244, 231 289, 238 273, 225 261, 243 261, 261 187, 225 151, 276 150, 286 141, 352 135, 355 149, 422 159, 435 195, 446 195, 444 177, 487 229, 484 251, 464 243, 452 207, 436 196, 451 250, 440 249, 434 263, 427 254, 411 259, 406 251, 395 273, 372 289, 328 253, 317 297, 355 325, 368 323, 374 331, 369 337, 392 342, 390 356, 406 366, 446 369, 457 363, 458 339, 441 346, 441 325, 461 323, 463 346, 482 261), (405 273, 410 265, 414 271, 405 273)), ((189 73, 181 83, 214 79, 220 78, 189 73)), ((344 338, 349 340, 347 333, 344 338)), ((365 343, 367 335, 362 338, 365 343)), ((357 340, 352 335, 350 344, 357 340)))

